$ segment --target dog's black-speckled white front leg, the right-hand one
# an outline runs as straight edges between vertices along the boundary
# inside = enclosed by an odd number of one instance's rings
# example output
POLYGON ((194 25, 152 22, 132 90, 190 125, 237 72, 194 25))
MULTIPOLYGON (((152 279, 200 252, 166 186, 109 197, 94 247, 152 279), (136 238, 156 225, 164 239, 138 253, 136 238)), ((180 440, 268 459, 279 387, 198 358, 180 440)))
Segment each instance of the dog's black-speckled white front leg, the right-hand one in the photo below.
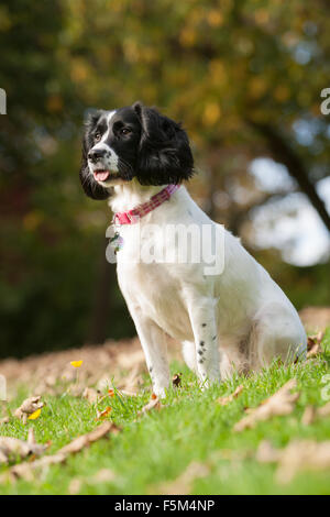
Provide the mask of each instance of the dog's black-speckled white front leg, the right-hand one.
POLYGON ((212 297, 194 297, 188 304, 197 373, 202 387, 220 382, 216 305, 217 301, 212 297))

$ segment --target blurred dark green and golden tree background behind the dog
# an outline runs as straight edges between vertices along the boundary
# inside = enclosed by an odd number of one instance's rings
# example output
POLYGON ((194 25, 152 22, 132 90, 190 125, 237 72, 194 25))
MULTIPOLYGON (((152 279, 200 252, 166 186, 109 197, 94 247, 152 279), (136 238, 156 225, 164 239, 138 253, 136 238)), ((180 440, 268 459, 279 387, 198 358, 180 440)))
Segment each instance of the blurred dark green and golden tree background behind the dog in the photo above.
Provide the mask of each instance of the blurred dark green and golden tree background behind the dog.
POLYGON ((330 305, 327 0, 11 0, 0 48, 0 356, 134 336, 78 169, 88 109, 138 99, 184 122, 197 202, 330 305))

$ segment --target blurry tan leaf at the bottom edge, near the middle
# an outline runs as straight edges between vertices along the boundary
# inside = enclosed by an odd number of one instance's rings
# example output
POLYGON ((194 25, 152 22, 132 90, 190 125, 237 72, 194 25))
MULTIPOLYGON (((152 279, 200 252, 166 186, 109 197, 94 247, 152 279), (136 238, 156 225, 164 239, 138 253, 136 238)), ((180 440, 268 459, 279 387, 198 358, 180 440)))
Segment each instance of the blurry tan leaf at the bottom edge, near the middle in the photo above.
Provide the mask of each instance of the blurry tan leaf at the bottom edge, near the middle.
POLYGON ((176 480, 163 483, 158 486, 157 494, 189 494, 193 488, 193 483, 200 477, 206 477, 209 473, 210 469, 206 464, 193 461, 176 480))

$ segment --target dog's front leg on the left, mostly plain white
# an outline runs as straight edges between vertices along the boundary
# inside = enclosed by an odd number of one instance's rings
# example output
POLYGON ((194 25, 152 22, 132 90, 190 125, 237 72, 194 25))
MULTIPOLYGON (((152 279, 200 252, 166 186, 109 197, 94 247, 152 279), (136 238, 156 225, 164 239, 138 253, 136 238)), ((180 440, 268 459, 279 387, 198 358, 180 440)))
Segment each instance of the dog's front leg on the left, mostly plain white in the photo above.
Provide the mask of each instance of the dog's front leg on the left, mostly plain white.
POLYGON ((163 398, 166 395, 165 389, 169 385, 166 336, 153 320, 145 318, 140 310, 131 310, 131 315, 144 351, 153 392, 163 398))

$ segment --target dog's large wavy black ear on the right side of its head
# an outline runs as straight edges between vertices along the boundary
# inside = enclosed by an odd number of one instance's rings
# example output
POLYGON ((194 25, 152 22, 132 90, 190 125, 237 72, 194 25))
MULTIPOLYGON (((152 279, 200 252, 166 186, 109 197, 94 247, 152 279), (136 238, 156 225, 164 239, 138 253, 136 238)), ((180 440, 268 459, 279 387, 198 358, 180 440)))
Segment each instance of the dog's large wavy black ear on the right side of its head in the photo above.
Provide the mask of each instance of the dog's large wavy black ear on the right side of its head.
POLYGON ((189 140, 180 124, 153 108, 135 102, 141 123, 136 177, 142 185, 179 184, 193 175, 189 140))

